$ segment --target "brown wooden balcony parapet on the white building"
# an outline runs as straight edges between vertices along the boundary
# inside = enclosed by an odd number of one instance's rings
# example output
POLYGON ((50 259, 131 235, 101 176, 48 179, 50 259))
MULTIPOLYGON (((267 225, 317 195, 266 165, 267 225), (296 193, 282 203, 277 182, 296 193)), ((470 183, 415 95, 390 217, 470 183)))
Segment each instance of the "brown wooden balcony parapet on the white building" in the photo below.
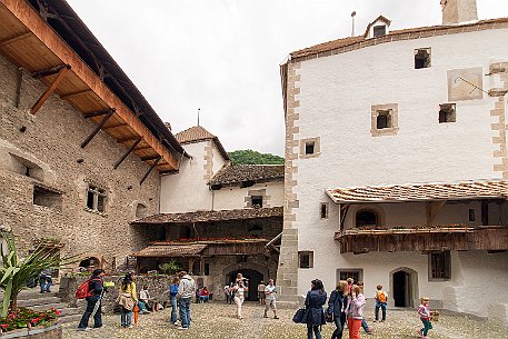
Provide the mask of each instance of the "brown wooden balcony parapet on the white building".
POLYGON ((508 226, 348 229, 335 235, 342 253, 508 250, 508 226))

